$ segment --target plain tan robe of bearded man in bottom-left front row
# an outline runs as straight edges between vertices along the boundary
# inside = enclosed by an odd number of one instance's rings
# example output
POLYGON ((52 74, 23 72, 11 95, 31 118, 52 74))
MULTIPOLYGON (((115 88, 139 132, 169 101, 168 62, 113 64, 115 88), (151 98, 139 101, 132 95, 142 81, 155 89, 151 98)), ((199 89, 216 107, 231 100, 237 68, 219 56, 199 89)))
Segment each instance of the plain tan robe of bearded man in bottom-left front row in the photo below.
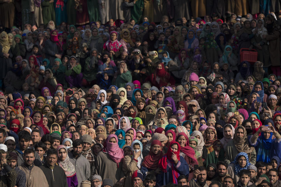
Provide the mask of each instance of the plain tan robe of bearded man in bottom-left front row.
POLYGON ((46 176, 39 167, 33 166, 31 171, 29 171, 29 169, 23 163, 18 168, 22 170, 26 175, 26 187, 49 187, 46 176))

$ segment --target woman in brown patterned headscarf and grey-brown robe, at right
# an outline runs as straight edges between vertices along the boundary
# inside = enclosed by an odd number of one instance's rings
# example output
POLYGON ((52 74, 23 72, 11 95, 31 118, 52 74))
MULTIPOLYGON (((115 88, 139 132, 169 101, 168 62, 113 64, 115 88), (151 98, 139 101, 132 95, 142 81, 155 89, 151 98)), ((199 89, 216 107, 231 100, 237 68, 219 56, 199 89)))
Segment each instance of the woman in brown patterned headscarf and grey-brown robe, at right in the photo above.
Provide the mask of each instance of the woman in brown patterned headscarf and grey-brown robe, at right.
POLYGON ((238 126, 233 135, 233 139, 228 141, 225 146, 225 162, 230 164, 234 161, 235 155, 244 152, 248 155, 251 164, 256 164, 256 150, 254 147, 249 145, 247 131, 245 127, 238 126))

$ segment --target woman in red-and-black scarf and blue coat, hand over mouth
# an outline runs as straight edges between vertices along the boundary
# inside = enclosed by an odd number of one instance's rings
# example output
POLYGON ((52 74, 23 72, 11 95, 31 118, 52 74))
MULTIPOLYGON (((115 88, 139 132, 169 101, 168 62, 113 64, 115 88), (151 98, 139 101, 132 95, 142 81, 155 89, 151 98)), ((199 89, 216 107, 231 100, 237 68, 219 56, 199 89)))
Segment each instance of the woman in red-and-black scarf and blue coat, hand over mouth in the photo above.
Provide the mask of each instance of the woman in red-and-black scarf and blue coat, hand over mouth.
POLYGON ((159 165, 162 169, 159 182, 160 186, 168 183, 177 184, 177 178, 180 175, 189 174, 189 166, 184 158, 180 156, 180 150, 181 147, 178 142, 171 142, 167 154, 159 160, 159 165))

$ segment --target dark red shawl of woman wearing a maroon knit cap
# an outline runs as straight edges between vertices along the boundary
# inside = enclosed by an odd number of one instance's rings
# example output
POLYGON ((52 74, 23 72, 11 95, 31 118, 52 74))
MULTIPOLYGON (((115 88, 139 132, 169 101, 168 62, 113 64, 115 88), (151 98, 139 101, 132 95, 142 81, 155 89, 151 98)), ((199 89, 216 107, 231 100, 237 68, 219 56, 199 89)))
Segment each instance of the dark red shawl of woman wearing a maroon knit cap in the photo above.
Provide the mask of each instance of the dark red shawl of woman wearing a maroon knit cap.
POLYGON ((162 150, 160 150, 157 154, 154 154, 152 151, 152 146, 154 145, 159 145, 162 146, 161 142, 159 140, 153 140, 151 142, 151 146, 150 146, 150 150, 149 153, 146 157, 144 157, 143 159, 143 163, 142 166, 146 167, 148 169, 158 169, 158 163, 160 161, 160 159, 163 157, 163 152, 162 150))

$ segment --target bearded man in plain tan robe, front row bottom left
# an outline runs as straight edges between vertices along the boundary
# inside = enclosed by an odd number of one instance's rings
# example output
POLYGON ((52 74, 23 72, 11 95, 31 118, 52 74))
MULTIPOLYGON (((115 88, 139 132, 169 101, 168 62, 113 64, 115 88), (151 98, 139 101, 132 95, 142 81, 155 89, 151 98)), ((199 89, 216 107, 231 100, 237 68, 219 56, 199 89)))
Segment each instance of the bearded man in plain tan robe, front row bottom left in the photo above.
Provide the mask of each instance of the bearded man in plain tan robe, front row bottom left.
POLYGON ((43 171, 34 165, 35 151, 33 149, 24 151, 23 160, 24 162, 18 168, 25 173, 26 186, 49 186, 43 171))

